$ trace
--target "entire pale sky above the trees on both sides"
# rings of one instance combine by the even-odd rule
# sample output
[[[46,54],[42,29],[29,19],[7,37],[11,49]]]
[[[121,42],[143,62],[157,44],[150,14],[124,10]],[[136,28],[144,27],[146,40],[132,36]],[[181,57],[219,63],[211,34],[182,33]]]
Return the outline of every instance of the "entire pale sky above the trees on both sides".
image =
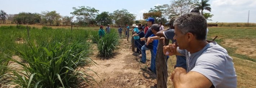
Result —
[[[2,0],[0,10],[7,14],[19,12],[37,12],[55,10],[62,16],[72,16],[72,7],[90,6],[101,12],[114,12],[127,9],[136,14],[136,20],[143,19],[142,14],[157,5],[170,4],[171,0]],[[256,23],[256,0],[210,0],[214,16],[208,22],[249,22]]]

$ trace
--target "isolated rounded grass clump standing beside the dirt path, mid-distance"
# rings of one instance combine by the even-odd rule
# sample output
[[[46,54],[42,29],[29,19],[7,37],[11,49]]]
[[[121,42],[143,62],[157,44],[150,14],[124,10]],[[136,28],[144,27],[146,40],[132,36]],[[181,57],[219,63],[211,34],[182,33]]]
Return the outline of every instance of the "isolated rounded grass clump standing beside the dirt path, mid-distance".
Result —
[[[105,58],[114,56],[114,50],[117,49],[118,43],[119,37],[117,32],[105,34],[105,36],[98,41],[98,55]]]

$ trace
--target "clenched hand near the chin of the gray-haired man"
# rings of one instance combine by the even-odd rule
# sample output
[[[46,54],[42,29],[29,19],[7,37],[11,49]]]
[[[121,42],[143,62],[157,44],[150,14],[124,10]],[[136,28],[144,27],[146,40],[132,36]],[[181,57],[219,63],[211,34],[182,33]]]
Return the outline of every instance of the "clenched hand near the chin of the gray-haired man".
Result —
[[[177,43],[169,44],[163,47],[164,55],[173,56],[177,53]]]

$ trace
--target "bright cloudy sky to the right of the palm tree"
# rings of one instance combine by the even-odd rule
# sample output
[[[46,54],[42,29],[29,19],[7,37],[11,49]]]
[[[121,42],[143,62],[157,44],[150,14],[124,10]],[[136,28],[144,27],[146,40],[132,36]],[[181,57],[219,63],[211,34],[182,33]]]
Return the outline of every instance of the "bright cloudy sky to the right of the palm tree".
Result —
[[[213,22],[247,22],[248,10],[249,22],[256,22],[256,17],[252,16],[256,14],[256,0],[213,0],[209,4],[212,8],[210,13],[214,15],[211,18]]]

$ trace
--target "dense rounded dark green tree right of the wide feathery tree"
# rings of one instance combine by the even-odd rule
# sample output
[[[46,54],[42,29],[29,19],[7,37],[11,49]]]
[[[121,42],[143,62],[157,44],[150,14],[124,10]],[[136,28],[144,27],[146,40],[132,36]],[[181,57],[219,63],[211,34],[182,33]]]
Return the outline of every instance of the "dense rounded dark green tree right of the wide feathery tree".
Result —
[[[106,25],[112,23],[109,12],[102,12],[102,13],[98,14],[95,20],[98,23],[98,25],[105,25],[106,26]]]

